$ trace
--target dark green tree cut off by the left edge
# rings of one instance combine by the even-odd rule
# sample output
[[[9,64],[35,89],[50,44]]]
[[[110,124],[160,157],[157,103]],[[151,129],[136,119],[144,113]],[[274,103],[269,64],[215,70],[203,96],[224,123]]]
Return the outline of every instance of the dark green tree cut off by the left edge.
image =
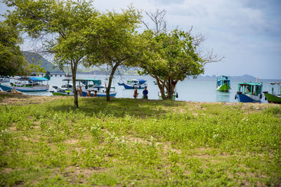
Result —
[[[22,40],[18,30],[8,25],[7,22],[0,22],[0,75],[15,76],[28,74],[29,68],[25,57],[20,51]]]

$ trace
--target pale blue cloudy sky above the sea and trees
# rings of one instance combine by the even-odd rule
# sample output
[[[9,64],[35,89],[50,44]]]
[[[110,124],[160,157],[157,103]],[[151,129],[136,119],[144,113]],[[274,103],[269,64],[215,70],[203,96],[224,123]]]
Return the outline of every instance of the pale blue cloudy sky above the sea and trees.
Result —
[[[130,4],[152,13],[165,9],[168,29],[192,27],[192,34],[204,36],[202,50],[224,57],[206,64],[204,75],[281,79],[279,0],[96,0],[93,4],[99,11],[120,11]],[[0,13],[6,9],[2,5]]]

